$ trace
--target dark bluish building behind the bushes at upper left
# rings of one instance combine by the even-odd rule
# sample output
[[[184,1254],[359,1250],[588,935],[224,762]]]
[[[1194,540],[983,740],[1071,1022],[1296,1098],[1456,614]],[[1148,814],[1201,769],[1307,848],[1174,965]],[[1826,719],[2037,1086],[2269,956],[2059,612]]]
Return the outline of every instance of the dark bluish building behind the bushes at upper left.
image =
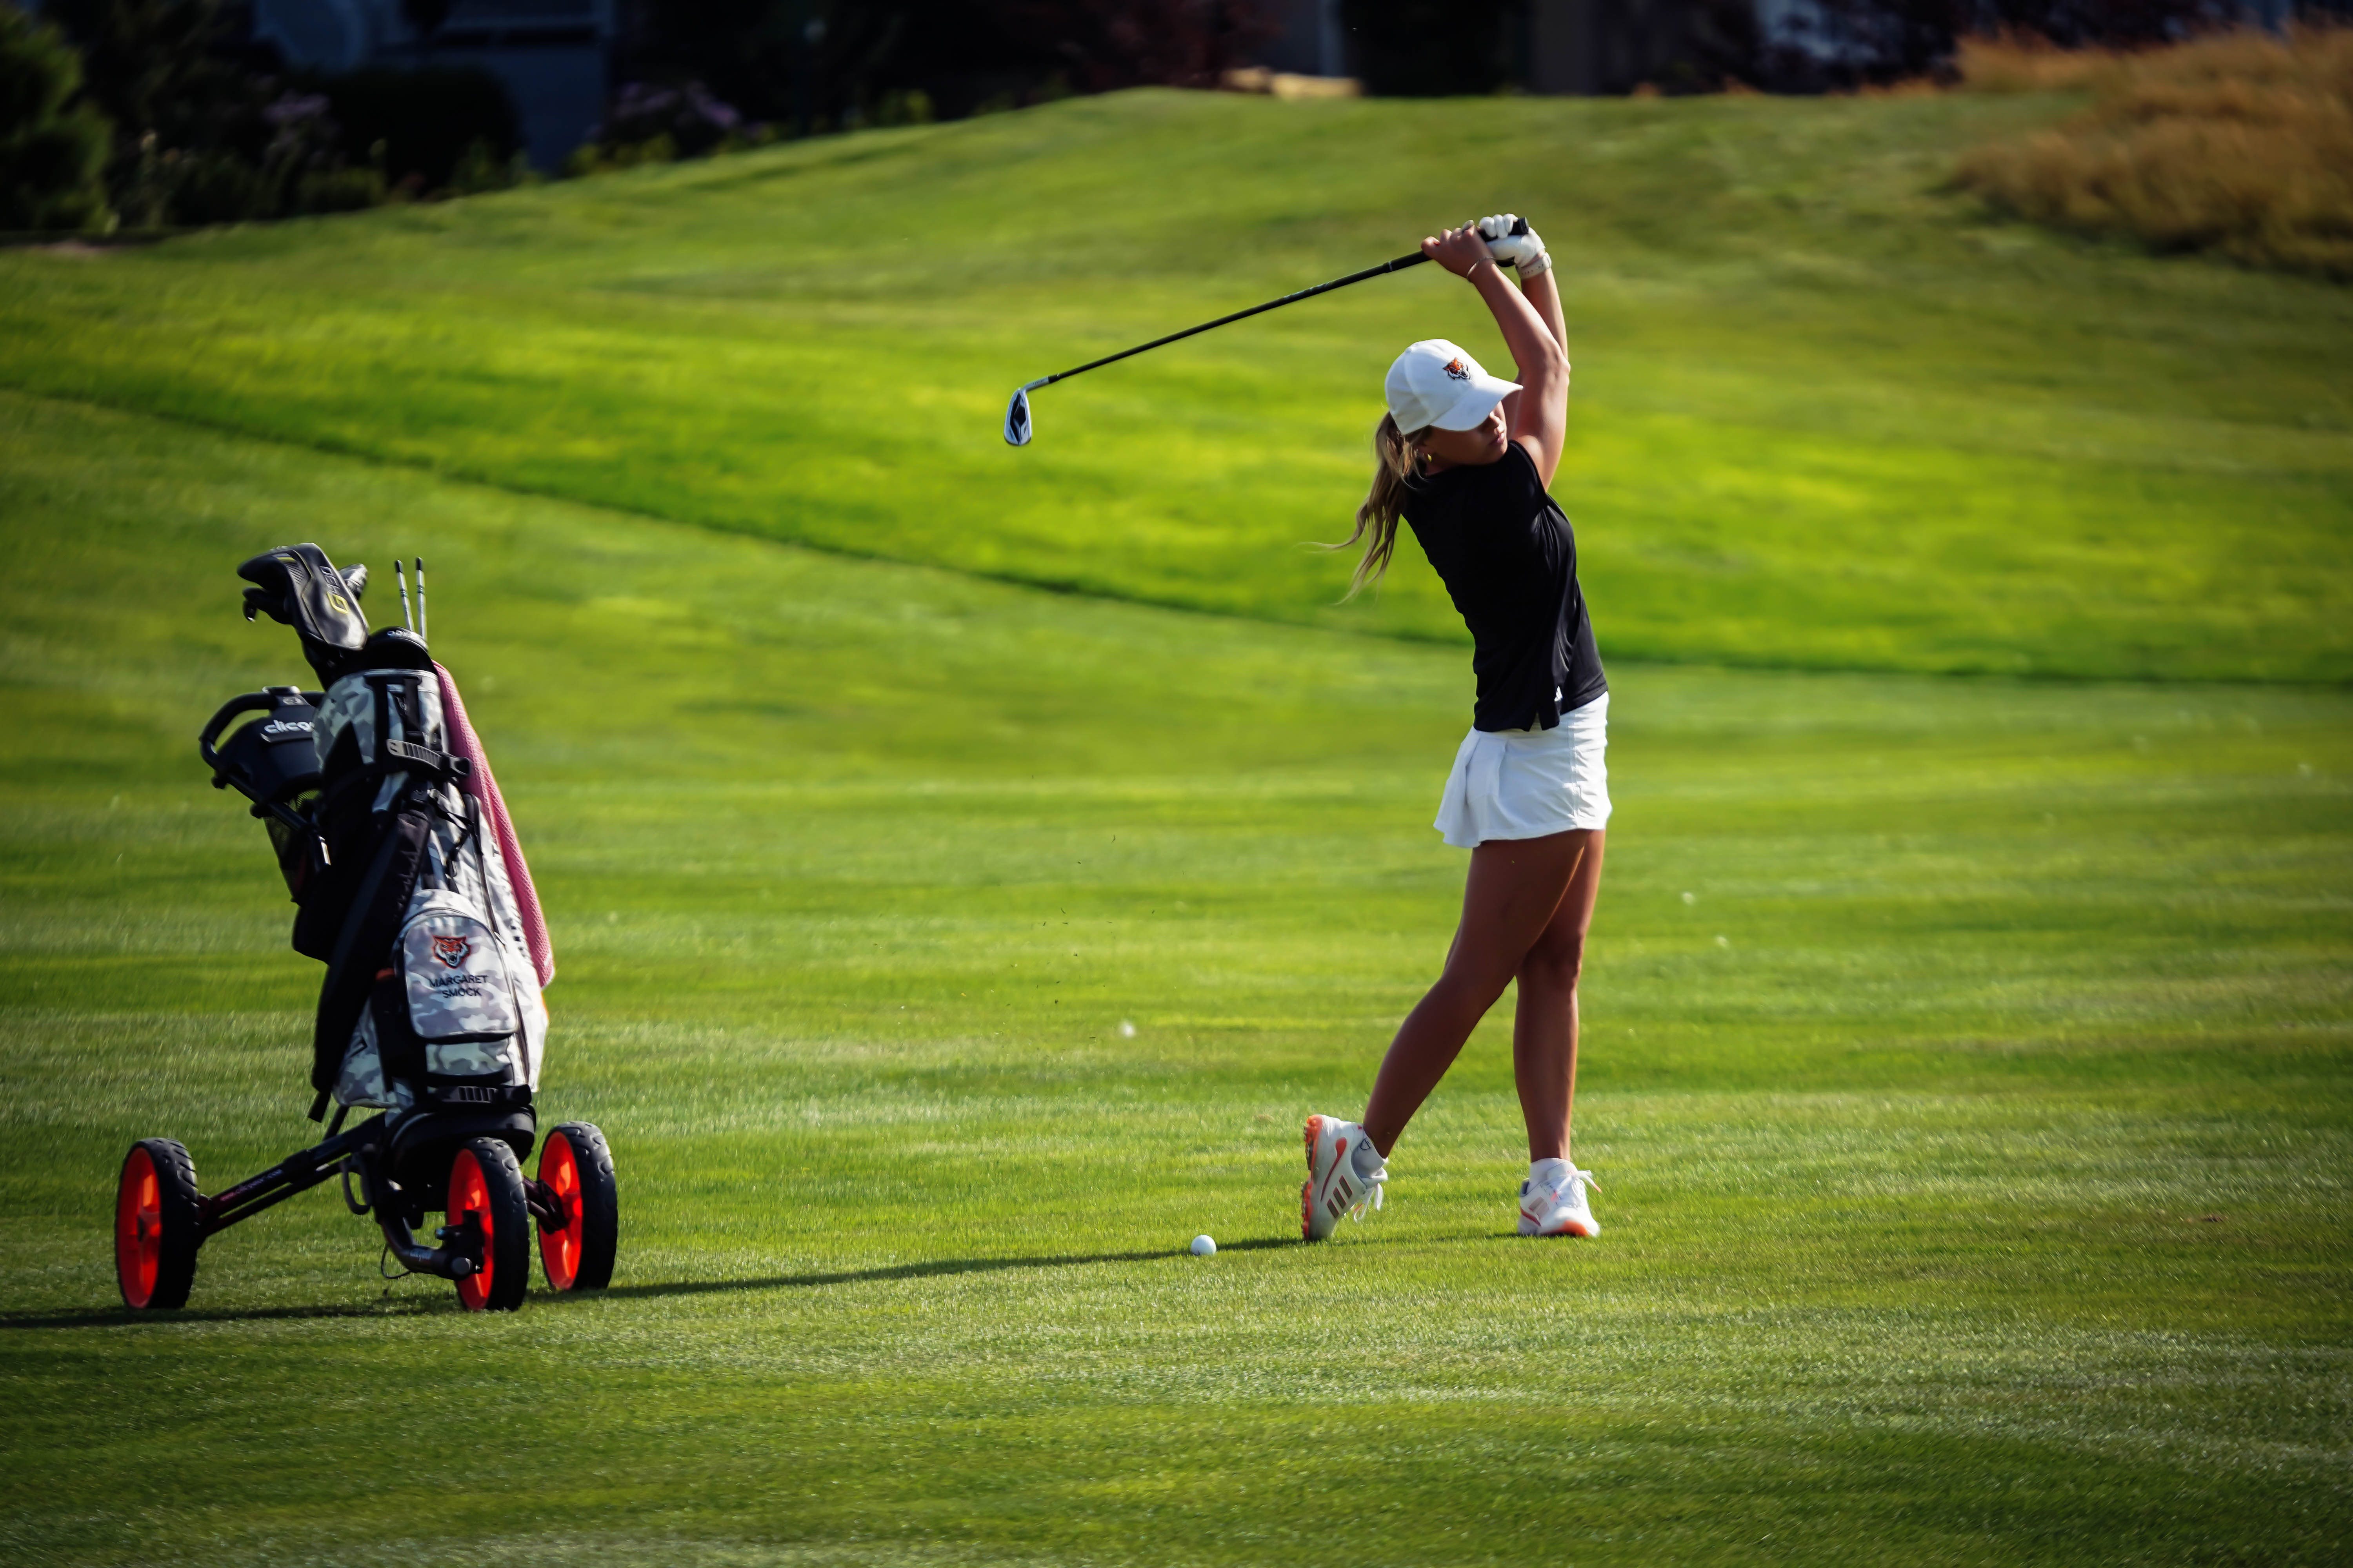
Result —
[[[487,71],[515,106],[532,165],[555,169],[605,118],[614,0],[254,0],[254,38],[329,75]]]

